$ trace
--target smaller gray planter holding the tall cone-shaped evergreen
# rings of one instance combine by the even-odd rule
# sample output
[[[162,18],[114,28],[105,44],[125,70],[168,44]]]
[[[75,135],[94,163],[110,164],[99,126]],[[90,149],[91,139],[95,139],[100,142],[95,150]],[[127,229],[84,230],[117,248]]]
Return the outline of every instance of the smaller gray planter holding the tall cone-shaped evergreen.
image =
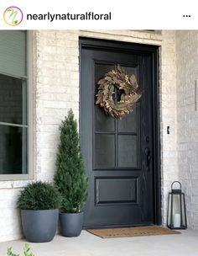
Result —
[[[83,212],[60,213],[60,229],[64,237],[78,237],[81,234]]]

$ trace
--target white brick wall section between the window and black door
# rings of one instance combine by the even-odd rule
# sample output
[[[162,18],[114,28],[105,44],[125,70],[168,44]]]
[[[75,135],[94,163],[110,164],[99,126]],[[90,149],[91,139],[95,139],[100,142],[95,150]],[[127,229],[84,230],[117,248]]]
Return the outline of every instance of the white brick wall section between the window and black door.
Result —
[[[70,108],[78,119],[78,34],[77,31],[38,31],[37,39],[36,178],[51,180],[55,173],[60,120]]]

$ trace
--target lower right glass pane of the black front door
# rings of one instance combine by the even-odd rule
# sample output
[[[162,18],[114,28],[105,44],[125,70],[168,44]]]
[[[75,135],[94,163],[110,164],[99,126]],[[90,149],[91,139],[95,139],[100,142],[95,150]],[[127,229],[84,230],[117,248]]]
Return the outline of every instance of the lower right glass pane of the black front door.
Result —
[[[118,167],[138,166],[137,136],[118,135]]]

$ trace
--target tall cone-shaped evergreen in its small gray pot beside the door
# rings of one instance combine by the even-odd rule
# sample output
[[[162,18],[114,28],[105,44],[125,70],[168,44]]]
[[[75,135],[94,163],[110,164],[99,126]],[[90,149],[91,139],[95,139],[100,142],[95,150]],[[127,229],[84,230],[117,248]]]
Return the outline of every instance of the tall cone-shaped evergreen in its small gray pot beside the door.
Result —
[[[88,181],[77,122],[71,109],[60,125],[55,184],[63,198],[60,209],[61,232],[65,237],[77,237],[83,225],[82,207],[86,202]]]

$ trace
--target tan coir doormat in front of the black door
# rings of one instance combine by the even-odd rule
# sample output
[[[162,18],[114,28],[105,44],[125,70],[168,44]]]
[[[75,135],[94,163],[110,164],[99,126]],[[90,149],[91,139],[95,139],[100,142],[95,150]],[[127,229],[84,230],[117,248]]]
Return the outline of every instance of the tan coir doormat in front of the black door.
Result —
[[[157,235],[180,234],[175,230],[165,227],[147,226],[147,227],[125,227],[125,228],[107,228],[107,229],[88,229],[88,232],[102,238],[114,237],[142,237]]]

